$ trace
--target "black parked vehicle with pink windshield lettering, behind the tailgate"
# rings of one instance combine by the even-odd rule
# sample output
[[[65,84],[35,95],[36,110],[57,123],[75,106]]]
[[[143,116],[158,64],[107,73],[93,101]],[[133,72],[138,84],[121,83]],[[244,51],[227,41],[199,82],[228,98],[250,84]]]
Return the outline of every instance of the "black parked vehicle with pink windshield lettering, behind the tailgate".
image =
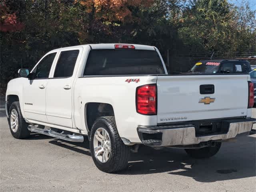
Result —
[[[250,62],[246,60],[204,60],[197,62],[190,70],[194,73],[249,73]]]

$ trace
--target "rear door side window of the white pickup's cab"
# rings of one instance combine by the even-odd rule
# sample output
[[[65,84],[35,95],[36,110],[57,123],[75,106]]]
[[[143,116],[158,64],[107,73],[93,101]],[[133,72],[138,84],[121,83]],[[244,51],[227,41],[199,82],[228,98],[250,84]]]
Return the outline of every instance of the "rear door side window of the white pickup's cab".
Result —
[[[54,78],[71,77],[79,54],[79,50],[62,51],[56,64]]]

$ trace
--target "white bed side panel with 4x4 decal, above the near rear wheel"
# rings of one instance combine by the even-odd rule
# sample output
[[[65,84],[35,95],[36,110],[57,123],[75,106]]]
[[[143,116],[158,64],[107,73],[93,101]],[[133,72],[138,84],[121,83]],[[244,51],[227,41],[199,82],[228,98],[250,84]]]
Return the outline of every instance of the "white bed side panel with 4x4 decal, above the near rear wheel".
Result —
[[[127,79],[140,79],[126,82]],[[86,131],[85,106],[88,102],[112,105],[116,126],[120,137],[131,142],[141,142],[137,127],[156,125],[156,116],[145,116],[136,112],[136,88],[144,84],[156,83],[156,76],[114,76],[78,78],[74,88],[74,121],[78,128]],[[82,104],[81,104],[82,102]]]

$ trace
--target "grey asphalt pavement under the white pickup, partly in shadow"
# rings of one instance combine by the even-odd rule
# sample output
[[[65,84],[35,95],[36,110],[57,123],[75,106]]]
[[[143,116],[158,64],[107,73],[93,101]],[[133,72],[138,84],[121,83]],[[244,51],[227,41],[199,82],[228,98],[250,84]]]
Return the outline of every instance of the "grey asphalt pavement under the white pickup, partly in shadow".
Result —
[[[205,160],[180,149],[141,147],[127,170],[106,174],[94,166],[87,140],[79,144],[40,134],[13,138],[0,103],[0,192],[88,191],[256,192],[256,135],[223,143]]]

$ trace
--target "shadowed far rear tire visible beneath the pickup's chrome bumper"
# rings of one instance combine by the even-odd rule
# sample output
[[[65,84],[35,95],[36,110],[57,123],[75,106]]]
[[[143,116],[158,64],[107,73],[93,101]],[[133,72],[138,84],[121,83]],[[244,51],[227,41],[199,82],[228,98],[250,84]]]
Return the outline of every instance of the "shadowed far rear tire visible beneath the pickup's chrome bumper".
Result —
[[[204,147],[200,149],[185,149],[192,158],[203,159],[214,156],[220,150],[221,142],[216,142],[214,147]]]

